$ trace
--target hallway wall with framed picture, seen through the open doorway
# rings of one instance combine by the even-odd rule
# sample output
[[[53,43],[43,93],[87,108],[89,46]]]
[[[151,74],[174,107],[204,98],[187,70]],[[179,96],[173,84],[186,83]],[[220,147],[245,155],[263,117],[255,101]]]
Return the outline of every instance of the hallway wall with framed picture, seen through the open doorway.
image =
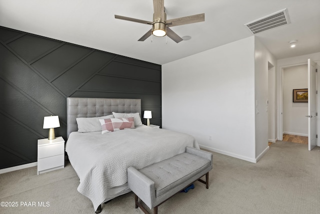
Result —
[[[283,69],[283,133],[308,136],[308,103],[293,103],[292,90],[308,88],[307,65]]]

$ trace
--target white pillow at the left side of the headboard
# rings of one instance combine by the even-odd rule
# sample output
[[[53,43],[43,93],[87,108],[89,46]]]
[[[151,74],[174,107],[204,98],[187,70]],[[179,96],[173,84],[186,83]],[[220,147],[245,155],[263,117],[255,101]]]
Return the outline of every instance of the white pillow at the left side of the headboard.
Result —
[[[101,131],[101,124],[99,119],[114,118],[112,114],[102,117],[78,117],[76,123],[78,124],[78,132],[93,132]]]

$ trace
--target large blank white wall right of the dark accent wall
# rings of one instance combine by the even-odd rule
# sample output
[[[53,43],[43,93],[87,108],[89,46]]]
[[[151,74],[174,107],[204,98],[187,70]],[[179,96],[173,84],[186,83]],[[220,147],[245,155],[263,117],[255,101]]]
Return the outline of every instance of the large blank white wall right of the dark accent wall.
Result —
[[[254,36],[162,65],[162,128],[255,162]]]

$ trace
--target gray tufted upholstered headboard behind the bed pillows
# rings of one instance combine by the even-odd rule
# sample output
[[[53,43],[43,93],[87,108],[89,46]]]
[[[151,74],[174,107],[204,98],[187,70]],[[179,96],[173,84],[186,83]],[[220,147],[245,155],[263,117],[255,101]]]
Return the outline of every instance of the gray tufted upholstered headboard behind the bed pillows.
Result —
[[[66,137],[78,130],[75,118],[101,117],[112,112],[139,112],[141,117],[141,99],[66,98]]]

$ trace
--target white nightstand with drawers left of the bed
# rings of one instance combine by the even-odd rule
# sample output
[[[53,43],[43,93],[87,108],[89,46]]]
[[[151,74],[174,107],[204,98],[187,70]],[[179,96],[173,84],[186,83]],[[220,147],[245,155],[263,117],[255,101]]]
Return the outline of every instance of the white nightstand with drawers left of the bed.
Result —
[[[64,168],[64,140],[56,137],[38,139],[38,169],[37,174]]]

